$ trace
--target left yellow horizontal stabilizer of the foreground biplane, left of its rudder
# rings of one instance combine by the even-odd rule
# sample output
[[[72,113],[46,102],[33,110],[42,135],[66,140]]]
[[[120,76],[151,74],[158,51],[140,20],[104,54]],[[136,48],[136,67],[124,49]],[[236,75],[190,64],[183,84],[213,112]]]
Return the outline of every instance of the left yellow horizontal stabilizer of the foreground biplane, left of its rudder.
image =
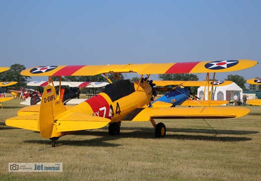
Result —
[[[38,127],[39,114],[38,115],[27,115],[17,116],[6,120],[7,126],[13,126],[16,128],[23,128],[33,131],[40,131]]]

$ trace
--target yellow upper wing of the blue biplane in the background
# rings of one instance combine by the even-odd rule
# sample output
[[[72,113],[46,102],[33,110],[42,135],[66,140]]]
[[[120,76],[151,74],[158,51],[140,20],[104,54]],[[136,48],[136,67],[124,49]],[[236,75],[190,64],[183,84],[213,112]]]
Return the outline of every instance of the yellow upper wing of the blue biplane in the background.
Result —
[[[153,83],[156,86],[166,86],[166,85],[183,85],[183,86],[205,86],[206,81],[186,81],[186,80],[153,80]],[[233,83],[232,81],[214,81],[214,86],[221,86],[221,85],[229,85]],[[212,82],[211,82],[212,85]]]

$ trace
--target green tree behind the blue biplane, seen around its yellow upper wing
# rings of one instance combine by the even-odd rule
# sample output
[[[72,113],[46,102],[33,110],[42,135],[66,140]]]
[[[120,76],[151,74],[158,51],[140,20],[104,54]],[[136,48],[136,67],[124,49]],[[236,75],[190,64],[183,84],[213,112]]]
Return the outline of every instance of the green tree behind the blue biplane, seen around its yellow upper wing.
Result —
[[[159,74],[158,78],[161,80],[192,80],[197,81],[199,80],[198,76],[192,73],[169,73],[169,74]],[[198,93],[198,86],[188,87],[190,91],[197,95]]]

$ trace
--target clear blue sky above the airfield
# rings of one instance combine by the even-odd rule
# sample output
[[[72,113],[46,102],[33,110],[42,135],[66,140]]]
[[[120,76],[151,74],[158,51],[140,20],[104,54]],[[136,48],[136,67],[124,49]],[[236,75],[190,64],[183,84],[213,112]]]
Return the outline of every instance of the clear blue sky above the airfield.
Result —
[[[222,0],[1,1],[1,66],[260,61],[260,7]],[[261,77],[260,66],[216,79]]]

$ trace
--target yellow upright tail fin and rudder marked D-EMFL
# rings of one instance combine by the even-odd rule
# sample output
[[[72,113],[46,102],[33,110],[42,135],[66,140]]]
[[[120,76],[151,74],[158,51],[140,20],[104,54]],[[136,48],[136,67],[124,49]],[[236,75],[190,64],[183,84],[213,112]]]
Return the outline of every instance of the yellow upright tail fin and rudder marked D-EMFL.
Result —
[[[52,138],[61,136],[56,132],[54,117],[65,112],[66,108],[62,101],[57,97],[55,89],[47,85],[42,95],[42,101],[39,112],[39,129],[43,138]],[[53,130],[55,126],[55,130]]]

